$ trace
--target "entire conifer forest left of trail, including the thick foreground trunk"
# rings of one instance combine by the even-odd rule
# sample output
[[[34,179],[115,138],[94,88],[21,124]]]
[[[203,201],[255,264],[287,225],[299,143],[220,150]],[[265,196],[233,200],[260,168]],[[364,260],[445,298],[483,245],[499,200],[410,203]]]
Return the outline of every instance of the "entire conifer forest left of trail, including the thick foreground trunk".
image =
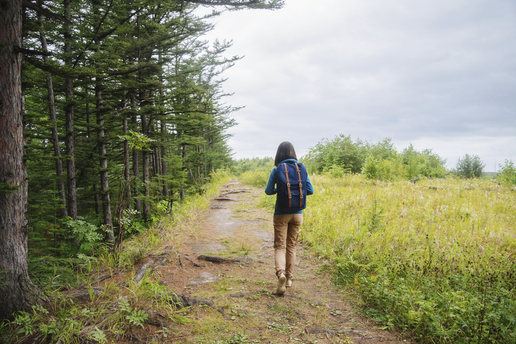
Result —
[[[231,42],[203,35],[221,11],[282,6],[2,3],[0,273],[10,295],[2,312],[36,297],[15,282],[29,280],[27,255],[70,256],[100,243],[116,251],[231,163],[225,130],[238,107],[224,103],[221,73],[239,57],[223,56]]]

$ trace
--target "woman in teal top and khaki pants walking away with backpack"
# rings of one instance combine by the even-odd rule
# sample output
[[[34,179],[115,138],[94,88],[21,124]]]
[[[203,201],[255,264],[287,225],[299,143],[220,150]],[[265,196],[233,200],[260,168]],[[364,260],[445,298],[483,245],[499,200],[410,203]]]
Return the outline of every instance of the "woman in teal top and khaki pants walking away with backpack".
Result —
[[[296,263],[296,244],[299,227],[303,223],[303,209],[307,207],[307,195],[314,194],[307,169],[297,161],[292,143],[281,142],[275,168],[269,176],[265,193],[276,194],[274,207],[274,257],[278,294],[285,293],[285,286],[292,286],[292,275]],[[274,187],[276,185],[276,187]]]

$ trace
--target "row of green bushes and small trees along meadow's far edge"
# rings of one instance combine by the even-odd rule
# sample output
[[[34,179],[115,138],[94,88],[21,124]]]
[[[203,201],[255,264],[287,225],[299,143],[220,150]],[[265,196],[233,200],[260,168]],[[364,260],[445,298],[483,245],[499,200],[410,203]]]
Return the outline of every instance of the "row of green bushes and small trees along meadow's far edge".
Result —
[[[351,136],[337,135],[334,139],[323,139],[308,154],[300,158],[310,174],[328,174],[343,177],[345,174],[361,173],[370,179],[414,179],[419,176],[443,178],[453,175],[463,178],[483,176],[485,163],[477,156],[465,154],[459,158],[453,169],[445,167],[446,159],[432,149],[417,151],[412,144],[398,152],[388,137],[369,142]],[[271,169],[272,157],[239,159],[233,172],[241,174],[259,169]],[[516,184],[516,169],[511,161],[500,165],[496,176],[499,183]],[[512,185],[511,184],[511,185]]]

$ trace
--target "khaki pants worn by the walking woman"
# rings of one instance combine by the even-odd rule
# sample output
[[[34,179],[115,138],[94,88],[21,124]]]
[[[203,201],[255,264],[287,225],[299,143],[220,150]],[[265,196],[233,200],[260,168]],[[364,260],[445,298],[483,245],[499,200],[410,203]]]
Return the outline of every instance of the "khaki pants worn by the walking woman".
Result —
[[[303,214],[274,215],[274,258],[276,259],[276,276],[285,274],[292,280],[294,263],[296,263],[296,244],[299,227],[303,223]]]

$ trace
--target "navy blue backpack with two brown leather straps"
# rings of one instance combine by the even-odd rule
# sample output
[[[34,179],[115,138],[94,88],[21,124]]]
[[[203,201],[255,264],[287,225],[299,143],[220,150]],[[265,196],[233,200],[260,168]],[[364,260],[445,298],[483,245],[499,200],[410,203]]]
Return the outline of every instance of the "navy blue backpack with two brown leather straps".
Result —
[[[307,168],[301,162],[278,165],[276,197],[281,211],[296,212],[307,207],[307,178]]]

